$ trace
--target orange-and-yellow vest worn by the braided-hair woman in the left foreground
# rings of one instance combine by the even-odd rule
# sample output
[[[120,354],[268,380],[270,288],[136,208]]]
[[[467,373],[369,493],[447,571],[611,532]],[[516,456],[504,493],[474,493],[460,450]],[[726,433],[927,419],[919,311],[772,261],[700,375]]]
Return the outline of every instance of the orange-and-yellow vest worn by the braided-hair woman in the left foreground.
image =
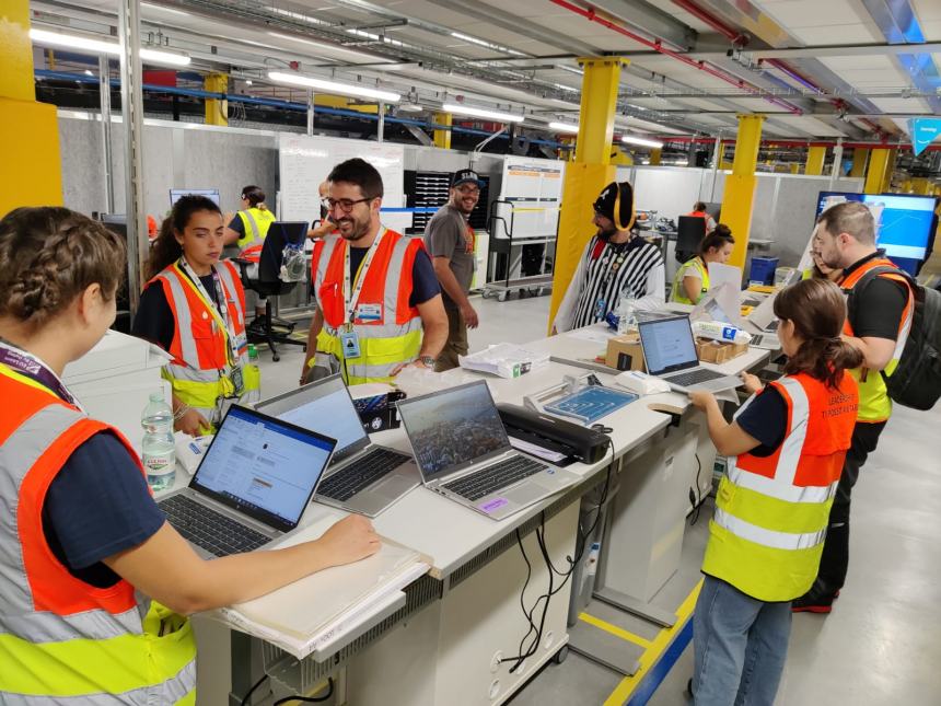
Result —
[[[0,704],[196,703],[189,621],[125,580],[72,576],[43,532],[43,502],[71,453],[109,430],[0,364]]]

